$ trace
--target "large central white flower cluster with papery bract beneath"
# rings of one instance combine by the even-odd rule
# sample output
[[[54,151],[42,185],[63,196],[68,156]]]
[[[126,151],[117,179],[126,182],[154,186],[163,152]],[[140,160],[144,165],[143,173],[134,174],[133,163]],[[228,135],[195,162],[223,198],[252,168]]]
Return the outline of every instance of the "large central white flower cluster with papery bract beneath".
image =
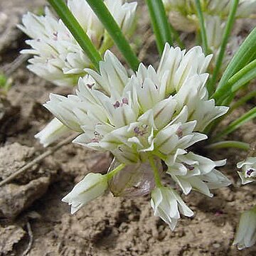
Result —
[[[73,213],[101,195],[107,182],[115,196],[151,193],[154,214],[174,229],[180,213],[193,212],[176,188],[162,183],[161,161],[167,166],[166,175],[185,194],[196,190],[213,196],[210,189],[230,184],[215,169],[225,161],[212,161],[188,149],[207,139],[203,129],[228,111],[208,100],[205,72],[211,58],[199,46],[186,52],[166,44],[157,70],[141,63],[129,76],[107,50],[100,73],[85,69],[88,75],[78,81],[76,95],[50,95],[45,107],[80,133],[73,142],[111,151],[115,158],[108,174],[98,178],[87,174],[63,198]]]

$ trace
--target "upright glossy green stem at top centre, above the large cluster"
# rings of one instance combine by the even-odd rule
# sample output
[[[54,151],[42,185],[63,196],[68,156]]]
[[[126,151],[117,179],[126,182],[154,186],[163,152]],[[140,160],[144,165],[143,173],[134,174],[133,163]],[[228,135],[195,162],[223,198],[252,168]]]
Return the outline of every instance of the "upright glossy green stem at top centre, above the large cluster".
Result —
[[[166,17],[164,4],[161,0],[146,0],[149,8],[151,24],[156,36],[156,46],[159,53],[163,53],[165,43],[172,45],[171,28]]]

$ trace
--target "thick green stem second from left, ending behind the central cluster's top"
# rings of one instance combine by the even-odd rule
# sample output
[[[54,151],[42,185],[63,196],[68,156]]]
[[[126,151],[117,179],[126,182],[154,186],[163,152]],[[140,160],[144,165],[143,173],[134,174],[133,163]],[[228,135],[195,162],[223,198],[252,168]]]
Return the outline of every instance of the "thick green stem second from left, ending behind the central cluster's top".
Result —
[[[100,19],[103,26],[105,26],[107,32],[112,37],[114,43],[117,45],[117,48],[119,48],[125,60],[127,60],[129,66],[132,68],[132,70],[136,71],[139,66],[139,60],[119,28],[117,22],[114,20],[113,16],[110,14],[110,11],[105,6],[104,2],[102,0],[86,1]]]

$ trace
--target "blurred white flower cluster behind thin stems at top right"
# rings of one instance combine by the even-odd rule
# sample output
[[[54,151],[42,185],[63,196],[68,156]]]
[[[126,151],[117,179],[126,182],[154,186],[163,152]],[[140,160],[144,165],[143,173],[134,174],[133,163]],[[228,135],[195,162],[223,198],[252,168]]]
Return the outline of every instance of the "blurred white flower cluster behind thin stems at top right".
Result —
[[[230,0],[201,0],[201,7],[205,19],[208,47],[214,55],[218,54],[222,41],[225,24],[230,12],[232,2]],[[196,3],[193,0],[164,0],[166,11],[169,12],[171,24],[178,31],[191,33],[199,29],[196,12]],[[256,0],[239,1],[236,18],[250,18],[255,14]],[[241,43],[241,38],[232,36],[228,43],[223,68],[228,64]]]

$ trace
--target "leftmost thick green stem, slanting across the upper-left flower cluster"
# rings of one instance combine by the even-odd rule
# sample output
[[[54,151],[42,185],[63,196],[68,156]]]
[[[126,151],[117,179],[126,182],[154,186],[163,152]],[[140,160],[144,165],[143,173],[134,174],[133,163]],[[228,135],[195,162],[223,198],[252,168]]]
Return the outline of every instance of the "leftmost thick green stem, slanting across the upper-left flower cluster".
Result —
[[[75,40],[78,41],[82,50],[84,50],[85,54],[90,58],[95,69],[99,70],[99,62],[102,60],[100,53],[98,53],[90,38],[82,29],[75,16],[73,16],[71,11],[68,9],[68,6],[66,6],[63,0],[48,0],[48,2],[53,6],[53,9],[56,11],[58,16],[60,16],[65,26],[74,36]]]

